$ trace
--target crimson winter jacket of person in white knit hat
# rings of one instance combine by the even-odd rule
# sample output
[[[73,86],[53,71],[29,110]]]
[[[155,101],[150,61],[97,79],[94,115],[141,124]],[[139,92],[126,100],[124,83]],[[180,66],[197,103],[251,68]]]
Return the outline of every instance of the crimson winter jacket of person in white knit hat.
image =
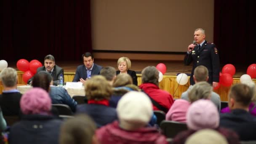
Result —
[[[168,144],[165,136],[155,128],[139,128],[126,131],[119,128],[117,121],[99,128],[96,136],[101,144]]]

